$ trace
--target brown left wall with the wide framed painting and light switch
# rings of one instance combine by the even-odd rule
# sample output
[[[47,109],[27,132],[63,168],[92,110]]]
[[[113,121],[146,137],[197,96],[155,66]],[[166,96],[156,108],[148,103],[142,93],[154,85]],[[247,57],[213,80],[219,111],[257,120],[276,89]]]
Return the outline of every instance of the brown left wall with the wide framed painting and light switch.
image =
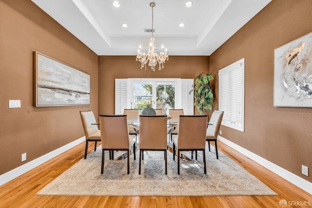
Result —
[[[91,104],[34,107],[33,51],[89,73]],[[84,136],[79,111],[98,113],[98,56],[31,0],[1,0],[0,57],[1,175]]]

